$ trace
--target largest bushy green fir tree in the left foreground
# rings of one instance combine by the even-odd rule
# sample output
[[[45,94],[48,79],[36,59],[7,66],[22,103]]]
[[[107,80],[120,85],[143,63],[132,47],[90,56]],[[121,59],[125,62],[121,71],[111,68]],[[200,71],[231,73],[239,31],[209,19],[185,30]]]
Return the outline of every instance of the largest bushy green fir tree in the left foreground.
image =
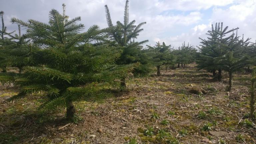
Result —
[[[115,85],[115,81],[133,70],[134,65],[114,64],[120,56],[117,48],[95,43],[105,38],[109,29],[100,30],[94,25],[80,33],[84,29],[83,24],[77,24],[80,20],[80,17],[68,19],[64,4],[63,14],[55,9],[50,11],[48,23],[11,19],[27,28],[24,36],[41,50],[38,51],[37,66],[27,66],[20,76],[15,77],[20,92],[9,101],[41,92],[46,99],[41,109],[66,108],[66,116],[72,120],[73,102],[105,95],[103,86]]]

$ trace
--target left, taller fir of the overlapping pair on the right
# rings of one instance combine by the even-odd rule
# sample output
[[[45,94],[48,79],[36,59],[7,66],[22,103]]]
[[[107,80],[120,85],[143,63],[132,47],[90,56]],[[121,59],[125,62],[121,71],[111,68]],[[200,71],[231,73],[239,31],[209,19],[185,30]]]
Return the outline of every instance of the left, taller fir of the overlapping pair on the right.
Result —
[[[222,80],[222,67],[219,63],[215,62],[217,57],[221,57],[225,54],[222,45],[228,44],[233,37],[233,34],[226,36],[227,34],[233,32],[232,29],[227,31],[228,27],[223,27],[223,23],[216,23],[215,27],[212,25],[212,30],[208,31],[207,35],[209,37],[206,39],[201,39],[201,48],[199,48],[199,56],[197,57],[197,64],[199,69],[206,69],[212,71],[215,75],[215,71],[218,70],[217,79]]]

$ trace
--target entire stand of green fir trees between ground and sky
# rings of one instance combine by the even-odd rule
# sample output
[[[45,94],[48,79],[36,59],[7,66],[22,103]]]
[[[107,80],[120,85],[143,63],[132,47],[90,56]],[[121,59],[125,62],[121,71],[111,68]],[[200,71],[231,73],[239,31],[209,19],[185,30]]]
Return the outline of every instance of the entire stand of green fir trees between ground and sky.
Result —
[[[18,25],[17,34],[4,26],[1,11],[0,82],[19,88],[19,93],[8,101],[43,93],[45,102],[40,109],[66,108],[67,119],[74,120],[74,102],[108,95],[110,90],[125,90],[126,78],[131,73],[142,77],[157,70],[160,76],[161,68],[174,70],[196,62],[198,70],[212,72],[218,81],[222,81],[222,71],[228,72],[228,91],[232,91],[234,72],[251,71],[250,117],[255,117],[256,75],[252,69],[256,65],[256,43],[238,36],[239,28],[228,29],[223,23],[216,23],[197,48],[185,42],[178,49],[164,42],[143,48],[148,40],[136,39],[146,22],[135,25],[135,20],[129,20],[128,2],[123,22],[113,24],[111,10],[105,5],[108,27],[100,29],[93,25],[86,32],[79,23],[81,17],[69,18],[64,4],[62,12],[55,9],[49,12],[48,23],[11,18]],[[21,28],[26,33],[22,34]],[[19,73],[8,71],[9,67],[18,68]]]

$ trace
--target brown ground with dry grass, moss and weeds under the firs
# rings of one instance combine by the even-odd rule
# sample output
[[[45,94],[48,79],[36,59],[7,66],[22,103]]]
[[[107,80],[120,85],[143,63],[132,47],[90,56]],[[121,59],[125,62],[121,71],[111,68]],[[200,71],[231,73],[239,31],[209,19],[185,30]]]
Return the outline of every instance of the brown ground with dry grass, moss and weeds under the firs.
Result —
[[[130,77],[125,92],[76,103],[77,123],[64,120],[65,110],[38,111],[41,94],[6,102],[17,88],[2,85],[0,143],[256,143],[255,121],[247,119],[250,82],[244,78],[249,73],[234,75],[231,92],[226,90],[227,73],[218,82],[211,73],[198,71],[195,64],[161,73],[159,77]],[[191,94],[193,87],[207,94]],[[227,135],[216,137],[209,131]]]

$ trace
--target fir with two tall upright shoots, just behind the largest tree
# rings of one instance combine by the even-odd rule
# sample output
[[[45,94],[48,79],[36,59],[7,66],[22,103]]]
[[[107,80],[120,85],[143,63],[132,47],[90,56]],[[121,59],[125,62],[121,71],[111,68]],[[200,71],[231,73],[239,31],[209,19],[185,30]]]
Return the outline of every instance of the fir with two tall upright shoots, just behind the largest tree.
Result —
[[[142,54],[142,44],[148,42],[148,40],[144,40],[141,42],[135,42],[139,36],[139,33],[143,31],[141,28],[142,25],[146,24],[146,22],[139,23],[137,26],[135,25],[135,20],[129,22],[129,1],[126,0],[125,10],[124,10],[124,22],[120,21],[116,22],[114,26],[110,17],[110,12],[108,6],[105,5],[106,10],[106,19],[109,27],[113,29],[108,33],[111,38],[111,43],[114,46],[119,46],[122,50],[122,54],[120,58],[116,61],[118,65],[132,64],[140,62],[142,65],[137,67],[133,72],[138,74],[138,72],[148,72],[150,70],[150,62],[146,62],[141,59],[141,55],[146,56],[145,53]],[[146,64],[146,65],[143,65]],[[126,76],[121,79],[121,87],[126,88],[125,82]]]

